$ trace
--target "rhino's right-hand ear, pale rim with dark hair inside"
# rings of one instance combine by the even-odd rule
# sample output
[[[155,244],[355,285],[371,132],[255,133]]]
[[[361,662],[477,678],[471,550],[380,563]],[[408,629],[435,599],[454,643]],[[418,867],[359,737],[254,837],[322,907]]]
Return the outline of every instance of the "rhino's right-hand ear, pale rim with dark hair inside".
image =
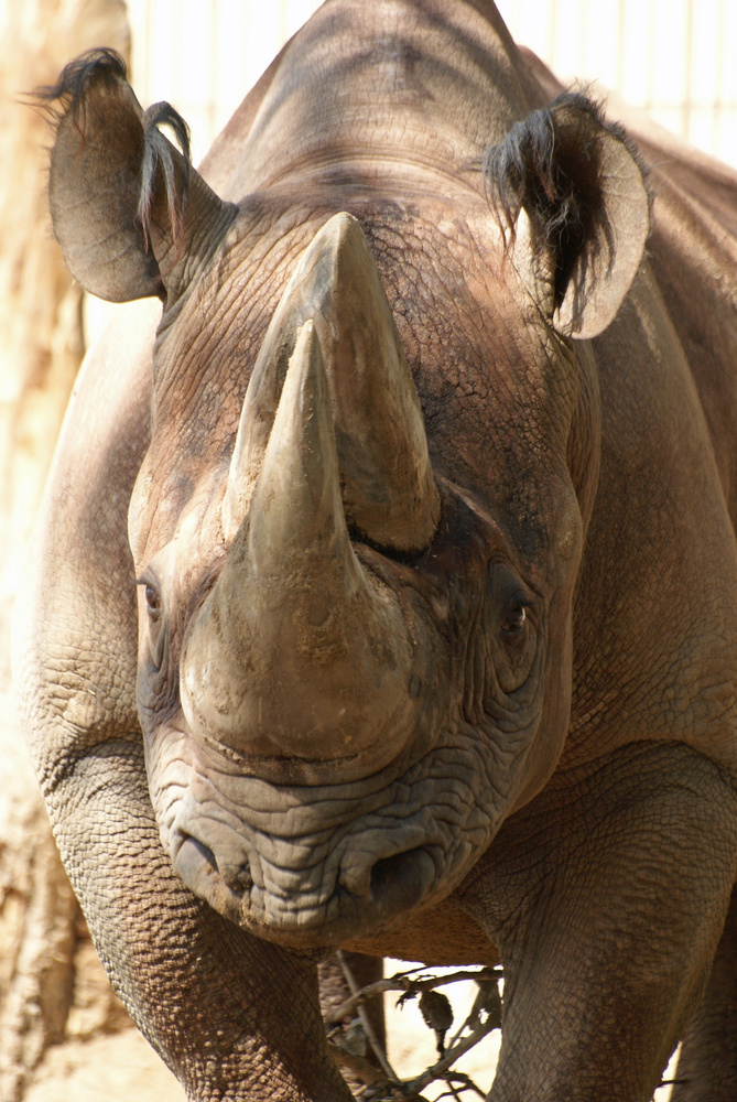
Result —
[[[637,154],[600,108],[564,95],[487,152],[485,177],[516,269],[553,327],[595,337],[644,253],[650,196]]]

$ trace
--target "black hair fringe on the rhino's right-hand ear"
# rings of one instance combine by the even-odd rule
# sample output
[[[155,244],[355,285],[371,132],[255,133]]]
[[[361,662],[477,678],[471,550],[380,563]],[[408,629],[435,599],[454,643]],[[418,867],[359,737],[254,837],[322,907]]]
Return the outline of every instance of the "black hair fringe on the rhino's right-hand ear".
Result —
[[[563,112],[562,108],[568,110]],[[571,119],[575,112],[594,125],[561,123],[561,118]],[[505,239],[509,234],[513,241],[517,218],[524,208],[535,251],[550,251],[555,258],[556,306],[572,278],[583,283],[587,261],[595,259],[605,241],[609,269],[615,259],[614,234],[603,199],[598,143],[592,140],[600,129],[622,141],[640,163],[622,129],[606,122],[601,106],[581,93],[564,93],[549,108],[532,111],[484,158],[489,204]]]

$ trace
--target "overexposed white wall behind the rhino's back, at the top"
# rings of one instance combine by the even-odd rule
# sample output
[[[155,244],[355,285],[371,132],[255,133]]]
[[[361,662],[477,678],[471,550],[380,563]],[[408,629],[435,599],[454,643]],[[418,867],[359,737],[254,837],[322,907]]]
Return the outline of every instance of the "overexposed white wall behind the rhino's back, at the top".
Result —
[[[204,154],[246,89],[318,6],[129,0],[139,98],[171,99]],[[562,79],[600,82],[737,165],[735,0],[497,0],[497,7],[512,37]]]

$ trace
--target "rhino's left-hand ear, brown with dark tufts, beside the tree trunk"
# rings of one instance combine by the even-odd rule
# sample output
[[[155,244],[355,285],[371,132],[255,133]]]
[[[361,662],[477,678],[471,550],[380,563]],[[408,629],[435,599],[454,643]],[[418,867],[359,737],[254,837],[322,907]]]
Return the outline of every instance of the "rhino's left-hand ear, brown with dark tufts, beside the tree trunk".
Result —
[[[180,293],[192,251],[212,247],[202,227],[217,234],[235,210],[191,168],[184,120],[169,104],[144,112],[111,50],[71,62],[37,98],[58,104],[50,204],[72,274],[112,302]]]

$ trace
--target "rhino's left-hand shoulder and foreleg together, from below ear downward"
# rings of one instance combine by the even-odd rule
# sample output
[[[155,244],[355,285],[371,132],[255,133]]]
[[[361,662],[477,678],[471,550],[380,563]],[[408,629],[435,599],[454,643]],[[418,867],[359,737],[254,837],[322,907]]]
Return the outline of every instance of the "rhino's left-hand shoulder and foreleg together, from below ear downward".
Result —
[[[136,711],[127,540],[160,307],[121,311],[109,348],[127,348],[131,365],[110,369],[102,345],[83,368],[17,625],[17,678],[54,834],[113,985],[189,1102],[346,1102],[315,964],[221,918],[161,845]]]

